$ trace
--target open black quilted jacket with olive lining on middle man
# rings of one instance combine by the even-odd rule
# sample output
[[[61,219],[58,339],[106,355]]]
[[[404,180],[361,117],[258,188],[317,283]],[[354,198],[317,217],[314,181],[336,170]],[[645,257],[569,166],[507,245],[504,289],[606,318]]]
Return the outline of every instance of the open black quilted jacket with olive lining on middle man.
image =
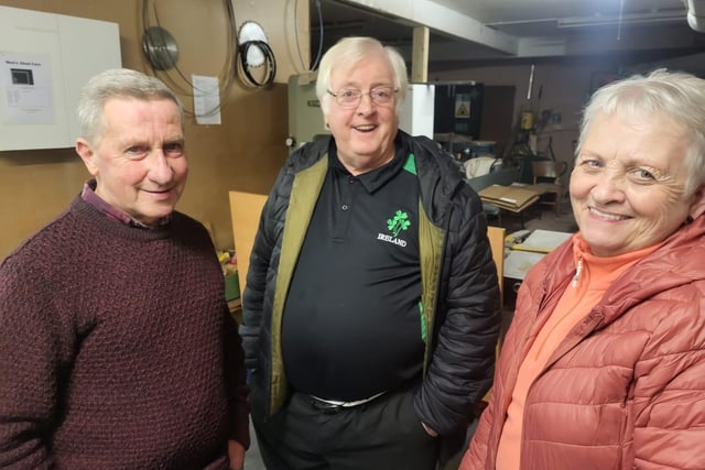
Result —
[[[477,194],[453,157],[427,138],[399,131],[420,187],[420,260],[426,331],[424,380],[414,405],[440,434],[465,426],[492,382],[499,284]],[[290,155],[262,209],[243,293],[246,362],[267,391],[253,407],[273,415],[289,394],[281,350],[284,302],[328,170],[329,139]],[[302,338],[302,340],[305,340]]]

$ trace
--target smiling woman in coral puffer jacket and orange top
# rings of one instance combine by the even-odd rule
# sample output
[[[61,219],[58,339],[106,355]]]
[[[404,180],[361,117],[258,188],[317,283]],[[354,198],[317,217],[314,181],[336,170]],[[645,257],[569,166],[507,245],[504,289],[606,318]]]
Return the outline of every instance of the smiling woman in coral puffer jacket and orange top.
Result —
[[[705,469],[705,80],[585,109],[579,231],[528,274],[462,470]]]

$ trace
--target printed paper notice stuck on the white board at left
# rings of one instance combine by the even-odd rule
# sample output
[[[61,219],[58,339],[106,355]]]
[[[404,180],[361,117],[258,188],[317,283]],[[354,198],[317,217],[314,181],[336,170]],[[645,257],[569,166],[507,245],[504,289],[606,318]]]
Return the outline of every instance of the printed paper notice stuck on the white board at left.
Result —
[[[4,114],[12,124],[53,124],[52,70],[48,56],[0,52]],[[1,101],[0,101],[1,102]]]

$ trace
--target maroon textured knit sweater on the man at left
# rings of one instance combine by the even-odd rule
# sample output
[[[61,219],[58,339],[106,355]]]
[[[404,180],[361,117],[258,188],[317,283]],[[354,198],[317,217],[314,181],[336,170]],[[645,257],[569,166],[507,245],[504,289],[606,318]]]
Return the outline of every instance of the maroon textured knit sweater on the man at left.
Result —
[[[0,468],[227,469],[240,339],[204,227],[77,197],[0,265]]]

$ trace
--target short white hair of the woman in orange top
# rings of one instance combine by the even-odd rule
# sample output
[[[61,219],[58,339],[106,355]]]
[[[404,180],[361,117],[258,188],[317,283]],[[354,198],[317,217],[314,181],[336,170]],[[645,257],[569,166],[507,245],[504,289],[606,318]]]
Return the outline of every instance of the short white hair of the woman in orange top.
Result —
[[[583,111],[579,154],[593,119],[600,113],[649,117],[660,113],[684,128],[688,142],[684,164],[685,194],[692,195],[705,182],[705,80],[683,72],[659,68],[648,75],[632,75],[598,89]]]

